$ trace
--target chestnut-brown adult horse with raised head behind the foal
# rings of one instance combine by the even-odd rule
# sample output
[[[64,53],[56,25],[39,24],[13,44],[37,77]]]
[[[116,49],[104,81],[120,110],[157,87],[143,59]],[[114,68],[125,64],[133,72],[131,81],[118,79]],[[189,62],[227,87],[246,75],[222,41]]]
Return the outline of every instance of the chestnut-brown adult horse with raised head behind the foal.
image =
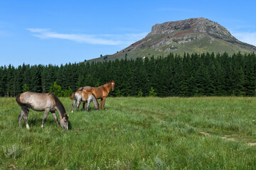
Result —
[[[100,98],[100,109],[104,110],[105,100],[110,93],[110,90],[114,91],[114,81],[107,82],[106,84],[99,87],[84,86],[80,87],[78,91],[91,92],[95,98]]]

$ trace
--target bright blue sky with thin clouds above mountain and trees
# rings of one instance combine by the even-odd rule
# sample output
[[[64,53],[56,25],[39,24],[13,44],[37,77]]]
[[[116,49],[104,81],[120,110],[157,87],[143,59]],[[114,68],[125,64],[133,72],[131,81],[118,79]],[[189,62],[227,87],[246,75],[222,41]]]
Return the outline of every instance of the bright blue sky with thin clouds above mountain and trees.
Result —
[[[0,66],[111,55],[156,23],[204,17],[256,45],[256,1],[0,1]]]

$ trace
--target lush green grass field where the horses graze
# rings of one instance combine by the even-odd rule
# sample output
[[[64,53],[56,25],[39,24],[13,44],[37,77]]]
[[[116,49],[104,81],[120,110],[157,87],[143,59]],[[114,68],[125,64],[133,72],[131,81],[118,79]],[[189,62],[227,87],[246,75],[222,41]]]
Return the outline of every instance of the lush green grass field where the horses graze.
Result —
[[[74,113],[60,101],[68,131],[36,111],[18,128],[21,108],[0,98],[0,169],[256,169],[256,98],[107,98]]]

